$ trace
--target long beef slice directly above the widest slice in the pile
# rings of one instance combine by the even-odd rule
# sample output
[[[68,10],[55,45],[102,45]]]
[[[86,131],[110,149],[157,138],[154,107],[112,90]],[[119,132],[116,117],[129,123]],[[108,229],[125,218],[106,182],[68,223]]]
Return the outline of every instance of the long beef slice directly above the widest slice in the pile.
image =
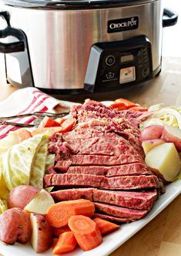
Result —
[[[57,166],[55,170],[58,173],[82,173],[82,174],[92,174],[100,175],[106,177],[116,177],[116,176],[126,176],[126,175],[152,175],[152,168],[149,168],[144,163],[129,163],[116,165],[112,167],[104,166],[78,166],[78,167],[69,167],[65,171],[65,167]]]

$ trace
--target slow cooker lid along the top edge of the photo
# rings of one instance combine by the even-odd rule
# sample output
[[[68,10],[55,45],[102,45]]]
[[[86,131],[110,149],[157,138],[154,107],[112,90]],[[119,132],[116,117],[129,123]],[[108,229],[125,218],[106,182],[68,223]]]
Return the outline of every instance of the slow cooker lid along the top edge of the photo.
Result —
[[[23,8],[111,8],[116,6],[141,5],[158,0],[0,0],[5,5]]]

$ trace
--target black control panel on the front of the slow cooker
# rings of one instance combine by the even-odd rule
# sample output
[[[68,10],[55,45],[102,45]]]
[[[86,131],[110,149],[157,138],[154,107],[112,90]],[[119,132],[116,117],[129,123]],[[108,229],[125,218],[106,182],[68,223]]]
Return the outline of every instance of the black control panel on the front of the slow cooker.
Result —
[[[152,49],[149,39],[139,35],[119,42],[92,45],[84,89],[109,91],[153,78]]]

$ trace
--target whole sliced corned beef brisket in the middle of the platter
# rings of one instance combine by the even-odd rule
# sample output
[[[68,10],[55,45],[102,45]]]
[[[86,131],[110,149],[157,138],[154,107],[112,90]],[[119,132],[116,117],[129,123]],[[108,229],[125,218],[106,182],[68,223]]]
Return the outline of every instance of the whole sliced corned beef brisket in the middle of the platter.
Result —
[[[90,99],[72,106],[76,126],[68,133],[55,133],[49,143],[55,166],[44,184],[60,189],[51,193],[55,201],[92,200],[95,217],[108,221],[136,221],[148,213],[162,183],[143,160],[141,114]]]

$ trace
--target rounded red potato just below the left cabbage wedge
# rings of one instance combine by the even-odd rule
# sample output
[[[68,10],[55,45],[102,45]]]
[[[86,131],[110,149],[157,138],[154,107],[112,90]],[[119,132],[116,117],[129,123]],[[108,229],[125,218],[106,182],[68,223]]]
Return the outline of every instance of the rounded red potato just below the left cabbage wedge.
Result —
[[[12,189],[8,195],[8,208],[24,209],[27,204],[39,193],[38,187],[21,185]]]

